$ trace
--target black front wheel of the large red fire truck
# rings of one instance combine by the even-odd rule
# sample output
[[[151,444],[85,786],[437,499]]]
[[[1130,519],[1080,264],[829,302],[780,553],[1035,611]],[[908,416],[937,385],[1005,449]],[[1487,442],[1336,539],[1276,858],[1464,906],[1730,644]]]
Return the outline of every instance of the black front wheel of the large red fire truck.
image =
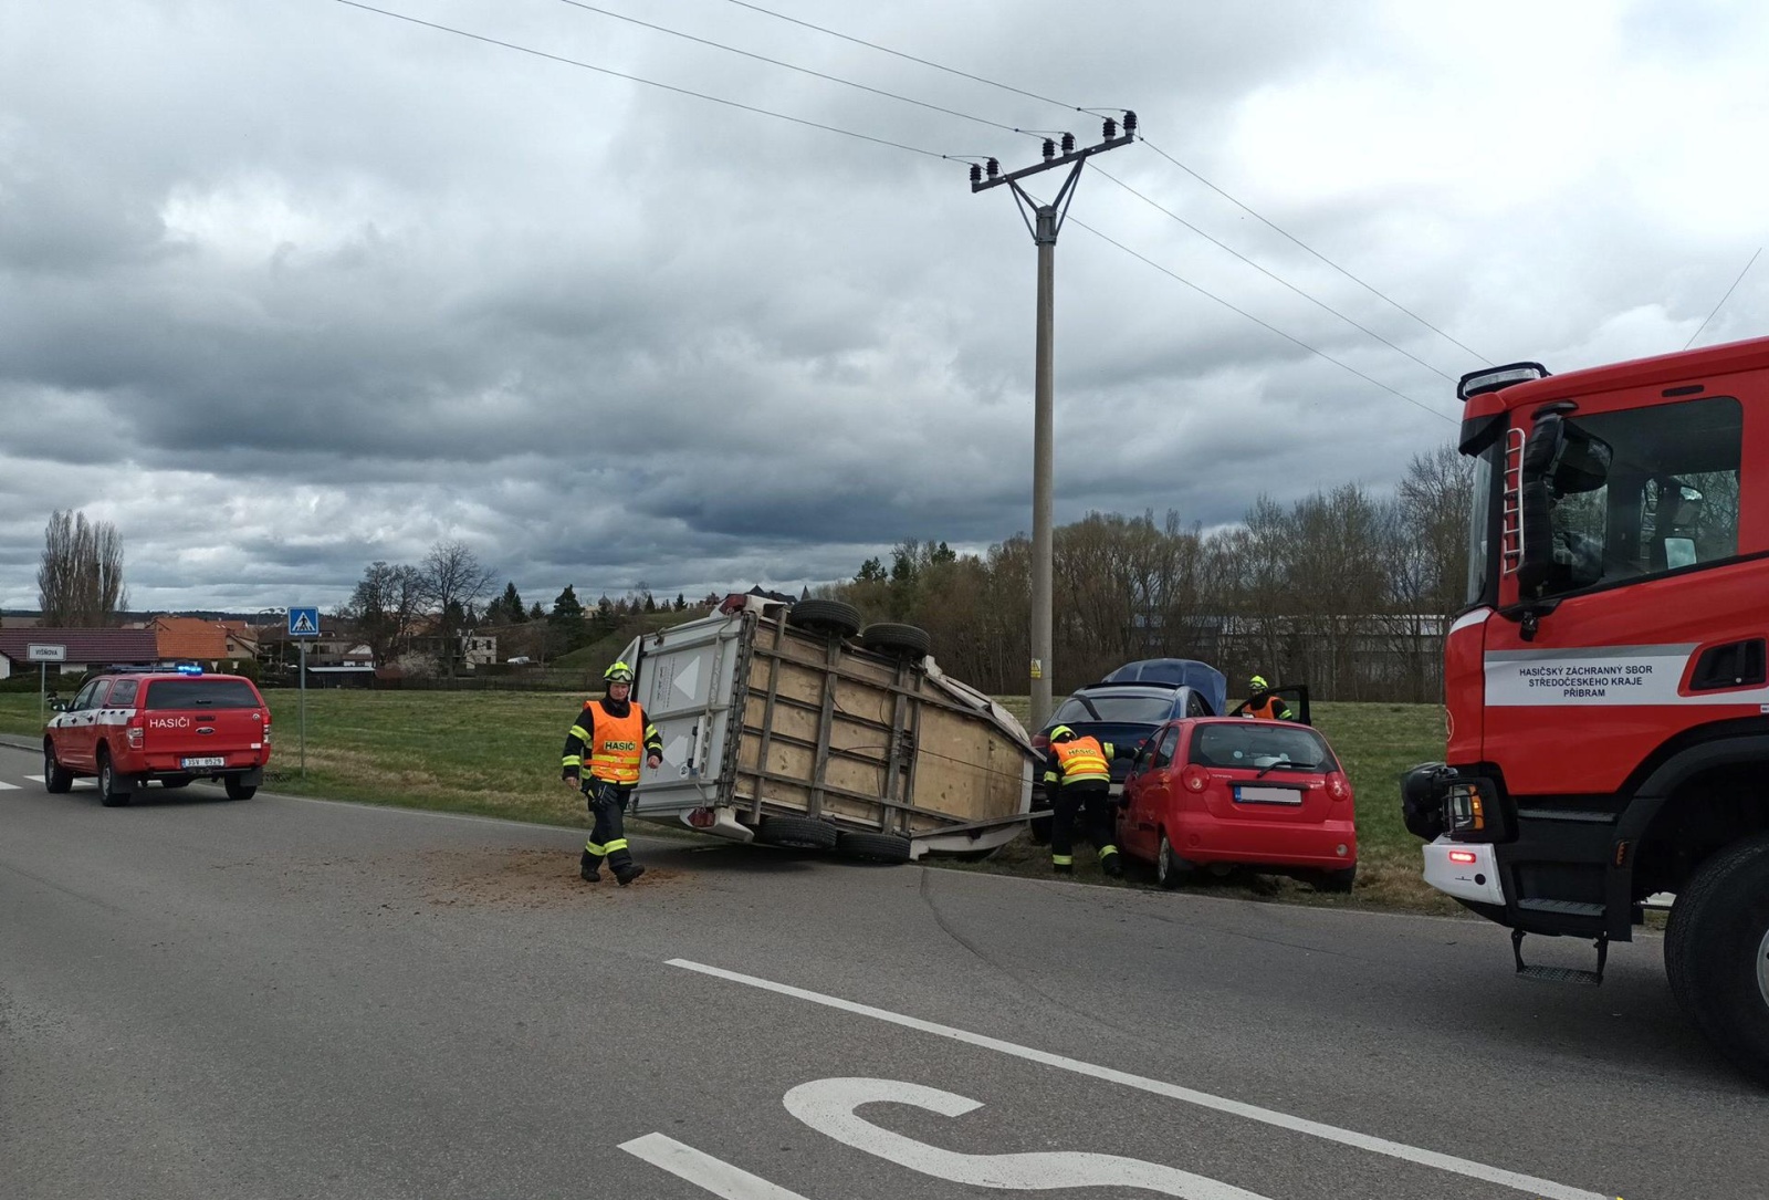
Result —
[[[1769,1083],[1769,835],[1719,851],[1679,892],[1665,972],[1719,1053]]]

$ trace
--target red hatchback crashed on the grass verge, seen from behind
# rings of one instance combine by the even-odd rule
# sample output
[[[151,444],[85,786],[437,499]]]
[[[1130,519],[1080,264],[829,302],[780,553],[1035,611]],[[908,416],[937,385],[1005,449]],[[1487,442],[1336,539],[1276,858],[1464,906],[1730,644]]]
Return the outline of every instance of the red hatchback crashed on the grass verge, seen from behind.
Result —
[[[1118,850],[1162,887],[1249,865],[1350,892],[1352,781],[1314,729],[1290,720],[1189,717],[1143,743],[1123,786]]]

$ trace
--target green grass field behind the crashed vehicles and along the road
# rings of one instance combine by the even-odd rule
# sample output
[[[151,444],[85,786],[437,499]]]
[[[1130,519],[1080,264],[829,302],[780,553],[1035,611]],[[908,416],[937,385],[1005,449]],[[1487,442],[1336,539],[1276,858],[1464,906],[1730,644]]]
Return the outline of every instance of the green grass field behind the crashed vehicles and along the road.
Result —
[[[301,768],[299,692],[265,694],[276,722],[267,789],[412,809],[476,812],[517,821],[587,827],[559,782],[559,747],[582,697],[538,692],[356,692],[306,696],[306,770]],[[998,697],[1021,720],[1028,701]],[[1272,876],[1231,876],[1196,890],[1311,904],[1461,912],[1419,878],[1419,842],[1401,827],[1396,781],[1444,756],[1435,704],[1313,704],[1316,727],[1344,761],[1357,793],[1359,878],[1352,896],[1327,896]],[[0,733],[35,738],[35,694],[0,694]],[[962,869],[1044,874],[1049,851],[1021,837],[994,858]],[[1079,880],[1107,881],[1091,853],[1076,855]],[[1145,885],[1132,871],[1130,887]]]

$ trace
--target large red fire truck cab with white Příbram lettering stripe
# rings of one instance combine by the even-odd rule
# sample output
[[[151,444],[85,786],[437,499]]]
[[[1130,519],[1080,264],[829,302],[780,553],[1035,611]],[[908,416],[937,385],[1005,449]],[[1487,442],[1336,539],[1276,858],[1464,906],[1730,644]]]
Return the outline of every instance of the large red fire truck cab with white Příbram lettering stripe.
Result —
[[[1426,880],[1569,982],[1673,894],[1672,993],[1769,1083],[1769,338],[1458,396],[1449,761],[1401,781]],[[1530,933],[1589,938],[1596,970],[1527,965]]]

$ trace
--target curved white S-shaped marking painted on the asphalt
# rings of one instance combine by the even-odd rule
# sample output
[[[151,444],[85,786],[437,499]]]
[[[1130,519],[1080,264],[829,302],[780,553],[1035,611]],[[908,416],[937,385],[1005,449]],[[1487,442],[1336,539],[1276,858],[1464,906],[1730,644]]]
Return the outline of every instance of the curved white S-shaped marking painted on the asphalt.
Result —
[[[817,1133],[913,1172],[973,1188],[1049,1191],[1053,1188],[1139,1188],[1182,1200],[1268,1200],[1205,1175],[1118,1154],[959,1154],[881,1129],[854,1110],[860,1104],[913,1104],[941,1117],[962,1117],[978,1101],[938,1087],[899,1080],[816,1080],[785,1094],[785,1110]]]

